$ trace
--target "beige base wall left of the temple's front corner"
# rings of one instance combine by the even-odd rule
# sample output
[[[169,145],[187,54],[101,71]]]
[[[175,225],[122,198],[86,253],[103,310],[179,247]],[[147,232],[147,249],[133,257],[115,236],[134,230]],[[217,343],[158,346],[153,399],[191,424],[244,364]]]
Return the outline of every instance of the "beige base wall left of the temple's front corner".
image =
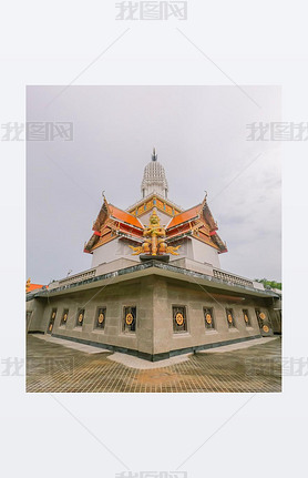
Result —
[[[52,335],[71,338],[76,342],[113,345],[119,348],[140,350],[152,354],[152,287],[145,277],[124,284],[93,288],[80,293],[63,294],[49,299],[41,316],[40,329],[47,333],[52,309],[57,308]],[[124,307],[135,306],[137,309],[137,334],[123,332]],[[99,307],[106,308],[104,329],[95,328]],[[78,326],[79,309],[84,308],[83,325]],[[65,325],[61,325],[63,311],[69,309]],[[31,332],[31,330],[29,330]]]

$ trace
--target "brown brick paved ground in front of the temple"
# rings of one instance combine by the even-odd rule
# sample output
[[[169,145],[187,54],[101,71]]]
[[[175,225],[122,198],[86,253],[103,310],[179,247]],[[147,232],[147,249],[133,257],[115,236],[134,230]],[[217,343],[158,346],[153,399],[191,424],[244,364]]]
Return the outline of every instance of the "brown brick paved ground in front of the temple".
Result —
[[[142,370],[31,335],[27,345],[27,391],[281,391],[280,338]]]

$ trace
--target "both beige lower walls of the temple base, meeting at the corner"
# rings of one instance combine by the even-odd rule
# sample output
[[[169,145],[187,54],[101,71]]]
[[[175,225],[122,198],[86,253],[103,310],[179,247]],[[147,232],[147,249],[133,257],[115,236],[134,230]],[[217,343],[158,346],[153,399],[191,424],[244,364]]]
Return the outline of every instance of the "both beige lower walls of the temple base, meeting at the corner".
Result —
[[[216,292],[217,294],[217,292]],[[49,298],[29,301],[32,312],[29,332],[47,333],[52,309],[57,309],[52,335],[88,344],[101,344],[111,349],[135,353],[145,358],[166,358],[170,354],[193,352],[195,347],[225,345],[260,336],[255,308],[273,316],[265,298],[229,296],[213,289],[153,274],[101,288],[65,292]],[[225,295],[224,295],[225,294]],[[96,327],[97,309],[105,307],[105,327]],[[125,307],[136,307],[136,330],[124,332]],[[174,332],[174,309],[184,307],[187,329]],[[213,308],[215,327],[206,328],[204,307]],[[69,309],[65,325],[61,325],[64,308]],[[84,308],[82,326],[78,326],[79,309]],[[235,327],[229,328],[226,308],[234,313]],[[250,325],[246,326],[243,308],[248,309]],[[269,335],[273,332],[270,330]],[[263,334],[264,335],[264,334]]]

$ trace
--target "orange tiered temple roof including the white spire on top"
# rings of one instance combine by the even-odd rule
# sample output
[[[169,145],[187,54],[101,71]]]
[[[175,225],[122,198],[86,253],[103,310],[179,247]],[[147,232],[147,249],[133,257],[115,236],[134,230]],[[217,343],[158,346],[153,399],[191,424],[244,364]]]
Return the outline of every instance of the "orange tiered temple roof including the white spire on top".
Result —
[[[132,242],[142,242],[143,231],[148,213],[155,209],[166,221],[166,242],[179,241],[187,236],[211,245],[219,254],[227,251],[226,244],[217,234],[214,220],[206,197],[199,204],[183,211],[182,207],[167,199],[167,181],[164,167],[157,162],[155,149],[152,161],[145,166],[142,181],[143,199],[122,211],[110,204],[104,197],[101,211],[93,224],[93,234],[84,246],[84,252],[92,253],[95,248],[115,240],[126,237]]]

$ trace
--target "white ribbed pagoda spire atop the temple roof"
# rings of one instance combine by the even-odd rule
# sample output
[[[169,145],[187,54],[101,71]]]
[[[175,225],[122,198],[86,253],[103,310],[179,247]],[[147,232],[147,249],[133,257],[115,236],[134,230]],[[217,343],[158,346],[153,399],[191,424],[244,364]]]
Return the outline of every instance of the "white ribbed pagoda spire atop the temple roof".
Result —
[[[166,180],[165,170],[157,161],[157,153],[153,148],[152,161],[146,164],[141,183],[142,196],[156,193],[160,196],[167,199],[168,183]]]

